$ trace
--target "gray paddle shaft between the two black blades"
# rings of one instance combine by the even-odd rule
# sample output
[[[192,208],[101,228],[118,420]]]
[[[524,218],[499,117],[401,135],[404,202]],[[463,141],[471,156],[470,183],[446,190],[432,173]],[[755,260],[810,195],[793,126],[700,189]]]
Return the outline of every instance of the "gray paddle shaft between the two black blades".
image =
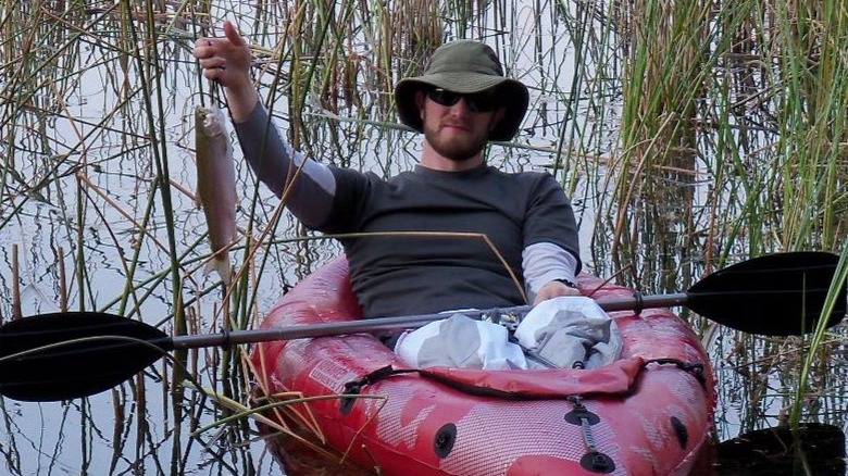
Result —
[[[604,311],[613,312],[685,305],[686,301],[687,295],[685,292],[679,292],[674,295],[609,299],[598,301],[598,305]],[[461,311],[461,313],[470,317],[478,317],[490,313],[500,313],[507,315],[524,314],[531,309],[533,309],[532,305],[516,305],[512,308],[499,308],[487,311]],[[304,339],[314,337],[340,336],[346,334],[407,329],[419,327],[434,321],[446,318],[448,316],[450,316],[449,313],[421,314],[401,317],[374,317],[354,321],[301,324],[297,326],[267,329],[230,330],[219,334],[183,335],[174,336],[172,339],[174,349],[195,349],[213,346],[227,347],[238,343],[265,342],[270,340]]]

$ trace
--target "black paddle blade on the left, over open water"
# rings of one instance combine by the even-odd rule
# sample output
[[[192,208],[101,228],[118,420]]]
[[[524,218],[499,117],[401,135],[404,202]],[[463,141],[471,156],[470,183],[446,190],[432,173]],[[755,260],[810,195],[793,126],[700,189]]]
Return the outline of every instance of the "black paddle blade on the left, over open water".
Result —
[[[171,342],[155,327],[103,313],[12,321],[0,327],[0,394],[21,401],[88,397],[141,372]],[[51,347],[37,350],[45,346]]]

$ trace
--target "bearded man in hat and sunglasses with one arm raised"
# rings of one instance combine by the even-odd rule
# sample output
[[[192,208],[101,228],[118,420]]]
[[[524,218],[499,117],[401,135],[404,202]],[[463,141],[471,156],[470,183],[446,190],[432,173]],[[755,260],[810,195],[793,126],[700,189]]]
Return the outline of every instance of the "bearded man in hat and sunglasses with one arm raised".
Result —
[[[578,295],[577,226],[562,188],[549,174],[508,174],[485,162],[487,142],[511,140],[528,104],[526,86],[504,77],[488,46],[442,45],[422,76],[397,84],[400,121],[424,133],[424,143],[414,171],[389,179],[284,143],[269,127],[250,50],[232,23],[223,37],[199,39],[194,55],[224,87],[246,160],[298,220],[326,234],[373,234],[339,239],[363,315]]]

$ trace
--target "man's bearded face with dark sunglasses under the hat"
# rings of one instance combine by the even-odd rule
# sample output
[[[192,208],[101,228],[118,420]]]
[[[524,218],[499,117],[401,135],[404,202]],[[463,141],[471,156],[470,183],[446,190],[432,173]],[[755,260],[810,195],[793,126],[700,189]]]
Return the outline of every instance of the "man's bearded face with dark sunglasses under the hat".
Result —
[[[436,90],[421,91],[416,99],[425,139],[436,152],[456,162],[479,155],[489,133],[503,116],[502,107],[492,109],[495,97]]]

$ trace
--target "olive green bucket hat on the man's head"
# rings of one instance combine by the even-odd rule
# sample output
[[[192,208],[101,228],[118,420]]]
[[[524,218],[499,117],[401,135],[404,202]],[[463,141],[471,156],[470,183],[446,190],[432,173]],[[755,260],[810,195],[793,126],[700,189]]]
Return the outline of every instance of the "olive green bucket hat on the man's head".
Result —
[[[487,45],[474,40],[457,40],[436,49],[422,76],[398,82],[395,101],[400,122],[419,133],[423,129],[415,105],[415,92],[441,88],[462,95],[473,95],[498,87],[498,96],[507,108],[500,123],[491,130],[490,140],[508,141],[515,137],[527,112],[529,95],[521,82],[503,76],[498,55]]]

